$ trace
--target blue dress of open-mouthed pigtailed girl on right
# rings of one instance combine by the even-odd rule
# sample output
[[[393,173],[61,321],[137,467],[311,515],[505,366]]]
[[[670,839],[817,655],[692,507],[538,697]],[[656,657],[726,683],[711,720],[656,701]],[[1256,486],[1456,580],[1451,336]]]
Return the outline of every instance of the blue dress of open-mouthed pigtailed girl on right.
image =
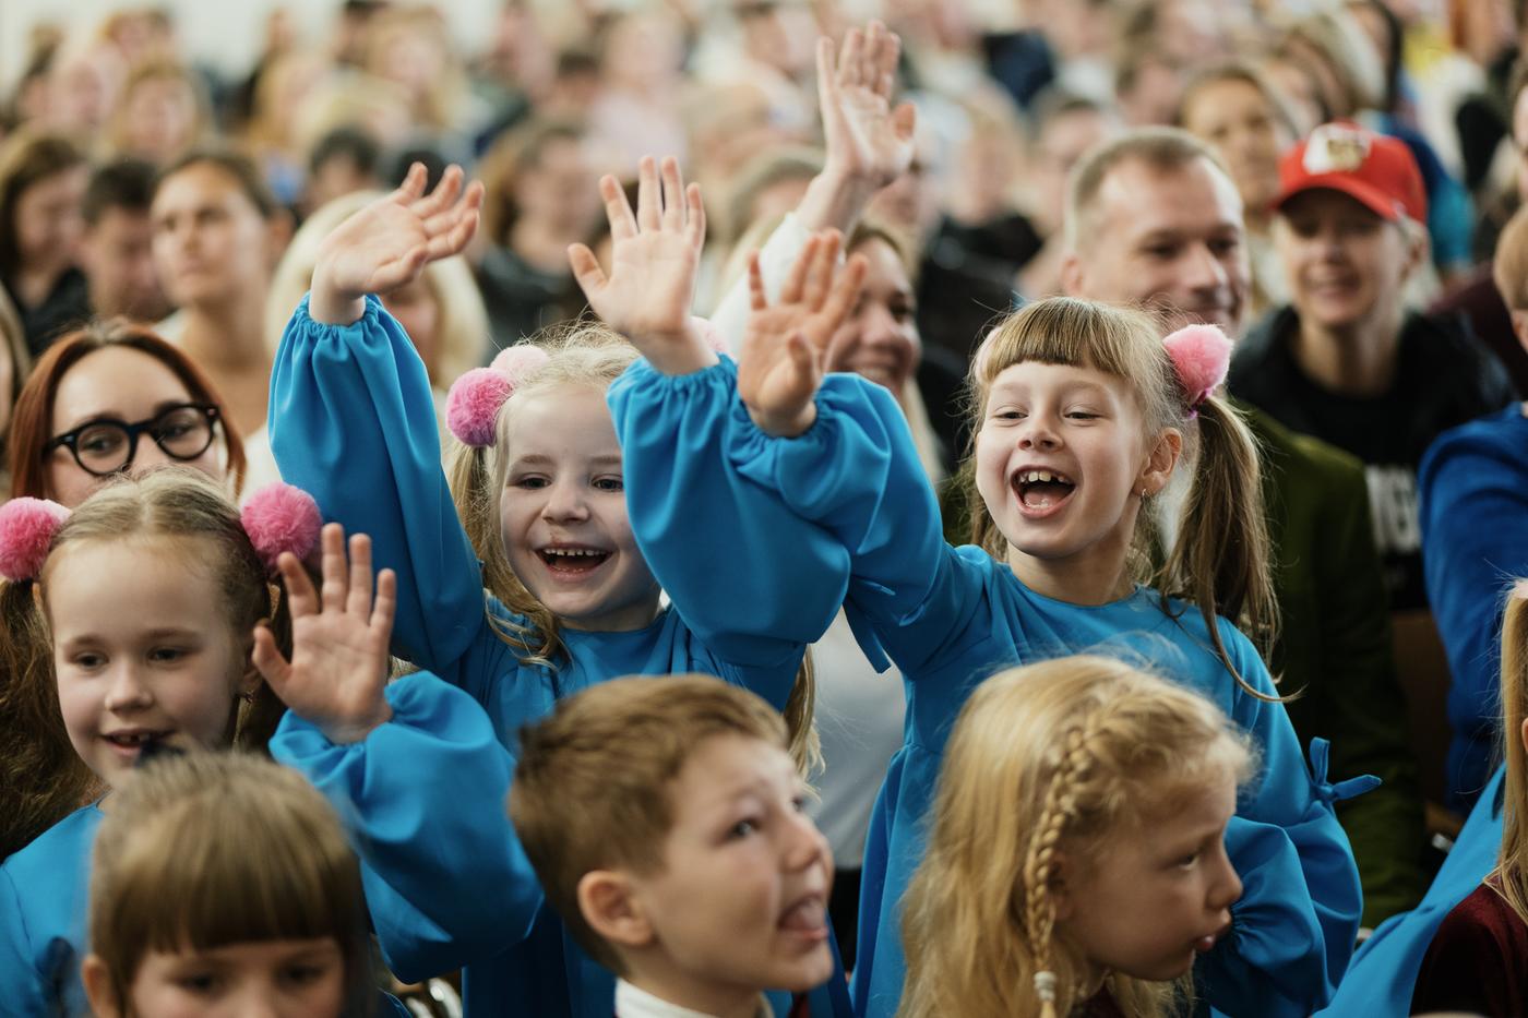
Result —
[[[730,379],[732,370],[723,364],[711,373]],[[617,426],[619,394],[643,388],[646,371],[633,367],[611,388]],[[718,384],[706,393],[730,399],[733,413],[746,416],[724,390]],[[692,396],[703,397],[701,390]],[[1284,706],[1233,680],[1210,650],[1196,608],[1175,602],[1164,613],[1148,588],[1097,607],[1063,604],[1027,590],[981,549],[944,544],[934,492],[886,390],[833,374],[816,402],[817,420],[804,436],[781,440],[738,430],[727,456],[740,478],[775,492],[848,550],[850,621],[871,660],[889,653],[905,676],[906,743],[892,760],[865,845],[856,1010],[879,1018],[900,1001],[906,966],[898,902],[923,858],[944,741],[970,689],[999,668],[1079,651],[1120,654],[1172,676],[1253,735],[1262,772],[1244,790],[1225,835],[1245,890],[1232,908],[1235,934],[1201,961],[1198,975],[1209,1003],[1232,1015],[1308,1015],[1323,1004],[1348,965],[1361,911],[1358,871],[1332,801],[1372,787],[1372,780],[1329,786],[1320,743],[1313,747],[1313,778]],[[646,478],[633,472],[628,485]],[[639,538],[649,530],[642,504],[633,495]],[[1271,694],[1251,644],[1224,619],[1218,627],[1236,669]]]

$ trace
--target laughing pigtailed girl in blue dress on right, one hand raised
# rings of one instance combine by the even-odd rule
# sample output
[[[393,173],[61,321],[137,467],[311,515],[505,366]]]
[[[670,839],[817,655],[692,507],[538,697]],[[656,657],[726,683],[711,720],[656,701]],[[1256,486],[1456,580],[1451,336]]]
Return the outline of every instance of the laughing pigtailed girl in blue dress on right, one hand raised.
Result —
[[[758,272],[752,289],[762,326],[772,306]],[[897,1007],[900,900],[923,854],[944,737],[972,685],[996,666],[1114,644],[1209,695],[1253,735],[1264,761],[1227,833],[1247,893],[1233,934],[1201,966],[1209,1003],[1229,1013],[1309,1013],[1335,986],[1357,934],[1361,894],[1331,802],[1360,786],[1328,784],[1322,751],[1313,752],[1313,780],[1262,659],[1229,621],[1264,634],[1271,604],[1256,451],[1213,394],[1229,342],[1201,327],[1164,344],[1144,315],[1068,298],[1008,318],[972,379],[981,546],[952,549],[891,394],[856,376],[816,384],[827,336],[802,329],[810,306],[793,312],[772,315],[744,344],[736,413],[759,430],[727,449],[730,469],[740,488],[750,481],[749,491],[782,498],[842,544],[856,631],[889,651],[908,691],[906,744],[866,844],[856,1009]],[[619,413],[617,426],[625,434]],[[674,457],[683,445],[677,433],[666,439]],[[1186,439],[1199,443],[1195,477],[1158,592],[1140,584],[1152,537],[1141,506],[1172,480]],[[646,485],[659,477],[633,471],[639,535],[649,523],[639,509],[654,497]]]

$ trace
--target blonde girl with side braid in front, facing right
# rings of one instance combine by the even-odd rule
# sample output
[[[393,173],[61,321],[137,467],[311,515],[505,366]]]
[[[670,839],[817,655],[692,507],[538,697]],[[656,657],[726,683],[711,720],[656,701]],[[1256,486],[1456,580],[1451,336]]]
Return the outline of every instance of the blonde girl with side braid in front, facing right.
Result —
[[[981,683],[903,905],[898,1016],[1164,1013],[1232,928],[1250,749],[1203,697],[1109,657]]]

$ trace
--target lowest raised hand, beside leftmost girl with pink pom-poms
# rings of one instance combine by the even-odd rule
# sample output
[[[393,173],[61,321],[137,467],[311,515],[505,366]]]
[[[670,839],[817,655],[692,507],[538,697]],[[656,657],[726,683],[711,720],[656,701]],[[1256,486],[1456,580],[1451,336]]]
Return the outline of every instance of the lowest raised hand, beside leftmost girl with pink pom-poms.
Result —
[[[384,569],[373,604],[371,538],[350,538],[347,567],[345,530],[330,523],[322,549],[322,598],[295,555],[286,552],[277,562],[292,607],[292,660],[281,656],[263,625],[255,630],[254,659],[298,717],[316,725],[332,743],[358,743],[393,717],[382,688],[397,581],[391,569]]]

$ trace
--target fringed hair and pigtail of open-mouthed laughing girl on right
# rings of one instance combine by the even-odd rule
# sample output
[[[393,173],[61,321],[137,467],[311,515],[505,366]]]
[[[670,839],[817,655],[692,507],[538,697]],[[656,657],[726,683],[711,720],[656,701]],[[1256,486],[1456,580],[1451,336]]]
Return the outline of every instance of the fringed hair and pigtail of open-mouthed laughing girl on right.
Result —
[[[983,344],[972,365],[972,433],[981,431],[992,384],[1005,368],[1038,361],[1093,368],[1123,379],[1135,393],[1143,437],[1167,428],[1196,440],[1190,481],[1177,541],[1160,567],[1151,549],[1160,544],[1155,515],[1140,512],[1131,572],[1157,587],[1161,608],[1180,598],[1199,608],[1210,644],[1221,663],[1251,695],[1268,700],[1236,669],[1221,639],[1216,616],[1224,614],[1265,651],[1277,631],[1277,604],[1268,566],[1268,527],[1264,520],[1258,445],[1241,413],[1221,396],[1210,396],[1190,414],[1187,394],[1163,345],[1157,321],[1144,313],[1073,297],[1034,301],[1004,319]],[[975,457],[970,457],[975,462]],[[973,486],[975,469],[963,480]],[[972,541],[995,558],[1007,555],[979,492],[969,492]]]

